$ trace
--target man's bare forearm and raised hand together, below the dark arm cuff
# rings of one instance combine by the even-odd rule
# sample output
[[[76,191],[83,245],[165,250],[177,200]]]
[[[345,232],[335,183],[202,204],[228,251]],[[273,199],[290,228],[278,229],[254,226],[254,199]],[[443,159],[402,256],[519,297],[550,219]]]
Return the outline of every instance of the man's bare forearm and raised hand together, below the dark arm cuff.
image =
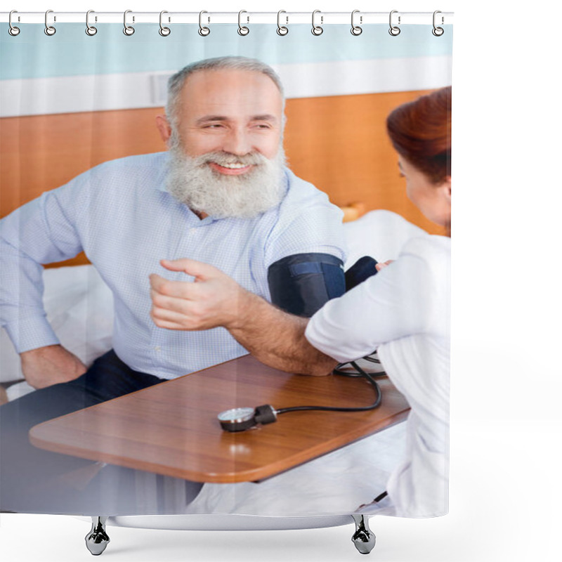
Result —
[[[192,275],[195,282],[150,275],[150,316],[158,327],[225,327],[256,359],[287,372],[323,375],[336,366],[336,360],[306,340],[307,318],[281,311],[207,263],[192,259],[160,263],[171,271]]]

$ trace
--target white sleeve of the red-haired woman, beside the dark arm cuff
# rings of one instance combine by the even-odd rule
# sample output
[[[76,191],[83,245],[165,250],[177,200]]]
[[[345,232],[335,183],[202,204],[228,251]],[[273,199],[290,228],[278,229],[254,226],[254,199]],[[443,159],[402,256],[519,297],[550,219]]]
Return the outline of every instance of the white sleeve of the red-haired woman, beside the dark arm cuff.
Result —
[[[369,355],[387,341],[424,332],[435,294],[432,277],[429,263],[406,251],[315,313],[306,339],[322,353],[347,362]]]

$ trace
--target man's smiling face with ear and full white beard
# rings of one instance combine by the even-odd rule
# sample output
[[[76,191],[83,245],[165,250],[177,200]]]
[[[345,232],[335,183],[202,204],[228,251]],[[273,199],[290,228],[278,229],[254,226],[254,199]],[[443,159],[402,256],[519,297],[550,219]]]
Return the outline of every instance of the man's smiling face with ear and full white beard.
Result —
[[[191,74],[172,122],[159,122],[171,157],[168,191],[200,218],[250,218],[275,207],[285,192],[282,112],[282,94],[266,74]]]

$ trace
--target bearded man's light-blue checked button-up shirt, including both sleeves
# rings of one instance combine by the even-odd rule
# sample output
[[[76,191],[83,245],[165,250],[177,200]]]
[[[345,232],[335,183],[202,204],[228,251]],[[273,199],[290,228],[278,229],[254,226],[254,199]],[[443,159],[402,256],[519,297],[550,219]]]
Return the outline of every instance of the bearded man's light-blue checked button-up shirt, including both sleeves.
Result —
[[[160,259],[211,263],[242,287],[270,299],[267,270],[306,252],[342,261],[341,210],[285,170],[282,202],[256,218],[203,220],[165,188],[167,153],[105,162],[45,192],[0,221],[1,321],[18,351],[58,344],[42,302],[41,263],[84,250],[114,295],[115,352],[133,370],[171,379],[246,353],[223,328],[181,332],[150,318],[150,273]]]

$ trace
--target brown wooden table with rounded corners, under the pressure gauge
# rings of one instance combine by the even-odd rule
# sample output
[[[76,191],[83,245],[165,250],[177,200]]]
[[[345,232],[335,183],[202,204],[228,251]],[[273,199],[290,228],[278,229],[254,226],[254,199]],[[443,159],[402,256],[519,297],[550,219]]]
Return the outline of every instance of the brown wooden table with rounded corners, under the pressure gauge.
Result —
[[[244,355],[121,398],[34,426],[47,450],[197,482],[258,481],[405,419],[409,407],[379,379],[382,404],[370,412],[290,412],[241,433],[221,429],[217,414],[271,404],[366,406],[365,379],[287,374]]]

